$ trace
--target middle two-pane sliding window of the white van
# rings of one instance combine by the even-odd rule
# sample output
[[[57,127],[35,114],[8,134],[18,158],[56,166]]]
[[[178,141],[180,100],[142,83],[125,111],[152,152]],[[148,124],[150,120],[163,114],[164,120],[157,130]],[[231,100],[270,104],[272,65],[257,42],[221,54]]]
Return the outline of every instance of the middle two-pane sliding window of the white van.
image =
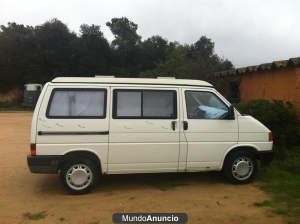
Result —
[[[176,119],[175,90],[113,90],[113,118]]]

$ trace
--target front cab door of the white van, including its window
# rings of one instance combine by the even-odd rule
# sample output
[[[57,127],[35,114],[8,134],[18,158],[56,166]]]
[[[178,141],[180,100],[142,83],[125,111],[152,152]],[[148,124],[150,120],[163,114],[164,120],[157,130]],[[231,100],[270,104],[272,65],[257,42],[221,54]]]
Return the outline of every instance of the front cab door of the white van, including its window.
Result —
[[[222,156],[237,144],[238,123],[226,119],[229,104],[213,89],[182,88],[186,170],[220,167]]]

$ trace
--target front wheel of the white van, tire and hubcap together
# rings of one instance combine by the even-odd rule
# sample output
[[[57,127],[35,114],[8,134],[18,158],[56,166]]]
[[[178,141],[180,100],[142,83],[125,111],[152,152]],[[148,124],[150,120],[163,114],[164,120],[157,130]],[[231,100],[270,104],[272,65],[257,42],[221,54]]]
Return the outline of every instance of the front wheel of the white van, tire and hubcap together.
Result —
[[[257,162],[250,152],[235,151],[224,161],[222,171],[231,183],[245,184],[255,177]]]

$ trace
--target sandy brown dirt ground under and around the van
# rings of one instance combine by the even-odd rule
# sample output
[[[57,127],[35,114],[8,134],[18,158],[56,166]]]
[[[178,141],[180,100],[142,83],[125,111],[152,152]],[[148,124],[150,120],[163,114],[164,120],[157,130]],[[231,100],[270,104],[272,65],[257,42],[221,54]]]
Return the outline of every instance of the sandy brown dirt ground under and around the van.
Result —
[[[114,212],[186,212],[188,223],[285,222],[252,205],[269,198],[257,181],[233,185],[220,172],[104,175],[90,194],[68,195],[57,174],[28,170],[31,116],[0,113],[0,223],[112,223]],[[148,184],[165,180],[183,185],[163,191]],[[43,210],[44,219],[22,216]]]

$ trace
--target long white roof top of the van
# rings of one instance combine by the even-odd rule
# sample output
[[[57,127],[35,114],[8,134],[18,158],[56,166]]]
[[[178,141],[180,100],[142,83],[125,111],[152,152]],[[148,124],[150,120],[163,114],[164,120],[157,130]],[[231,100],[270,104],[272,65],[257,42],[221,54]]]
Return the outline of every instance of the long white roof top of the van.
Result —
[[[117,83],[117,84],[155,84],[155,85],[191,85],[213,87],[212,84],[195,79],[167,78],[103,78],[103,77],[57,77],[53,83]]]

